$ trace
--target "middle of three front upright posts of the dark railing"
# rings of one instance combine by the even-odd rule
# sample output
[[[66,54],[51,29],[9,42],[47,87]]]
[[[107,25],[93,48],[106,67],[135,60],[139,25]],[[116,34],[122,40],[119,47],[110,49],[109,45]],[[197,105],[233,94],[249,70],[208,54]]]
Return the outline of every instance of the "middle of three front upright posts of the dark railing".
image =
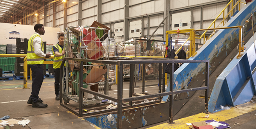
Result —
[[[171,95],[169,95],[170,98],[170,105],[169,105],[169,122],[170,124],[173,124],[173,72],[174,72],[174,63],[170,63],[170,92],[172,92]]]

